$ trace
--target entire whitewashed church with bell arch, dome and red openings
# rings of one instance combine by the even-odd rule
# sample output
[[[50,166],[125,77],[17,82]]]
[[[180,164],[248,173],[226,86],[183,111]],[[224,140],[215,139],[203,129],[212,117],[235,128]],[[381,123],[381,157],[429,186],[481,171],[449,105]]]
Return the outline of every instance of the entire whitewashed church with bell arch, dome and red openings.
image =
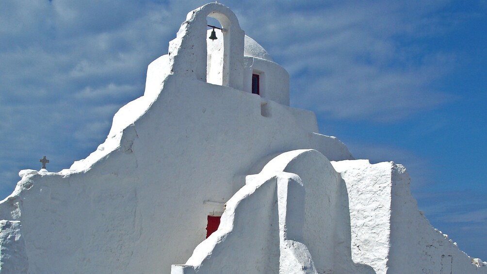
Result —
[[[289,107],[288,73],[219,3],[188,13],[105,143],[19,175],[0,274],[487,274],[402,165],[354,160]]]

